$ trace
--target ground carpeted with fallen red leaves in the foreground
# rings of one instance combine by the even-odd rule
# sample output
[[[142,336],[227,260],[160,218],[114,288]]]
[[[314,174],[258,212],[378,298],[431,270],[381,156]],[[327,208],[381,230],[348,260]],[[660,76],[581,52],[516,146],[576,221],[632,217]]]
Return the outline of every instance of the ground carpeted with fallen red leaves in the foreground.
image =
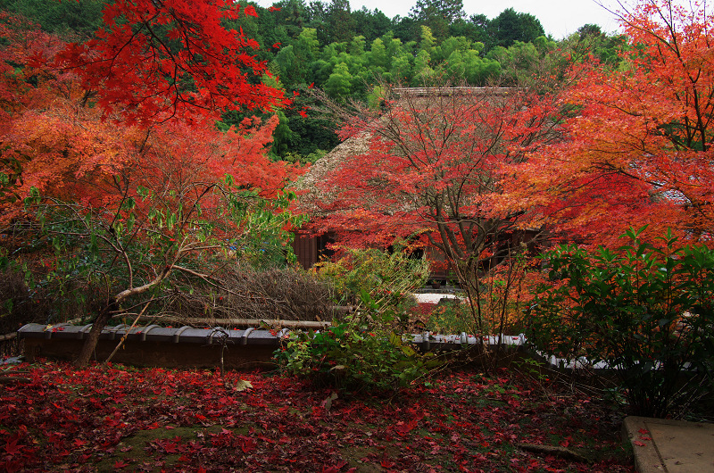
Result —
[[[26,382],[0,385],[4,471],[634,471],[619,416],[513,371],[385,398],[264,373],[9,370]]]

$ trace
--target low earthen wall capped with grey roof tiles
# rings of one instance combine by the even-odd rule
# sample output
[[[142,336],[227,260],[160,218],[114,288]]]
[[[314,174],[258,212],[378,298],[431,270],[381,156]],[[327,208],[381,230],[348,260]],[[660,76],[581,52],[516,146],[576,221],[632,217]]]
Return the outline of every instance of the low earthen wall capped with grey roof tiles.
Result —
[[[27,361],[38,357],[75,360],[84,344],[91,325],[72,326],[59,324],[44,326],[28,324],[18,331],[24,344]],[[163,328],[157,325],[130,328],[119,325],[104,328],[99,336],[93,359],[105,361],[122,336],[127,336],[123,347],[114,354],[112,361],[137,366],[165,368],[211,368],[220,366],[223,350],[223,365],[227,369],[255,369],[273,366],[272,355],[279,348],[281,339],[289,333],[282,330],[226,329],[226,328]],[[422,351],[452,352],[464,347],[475,347],[481,340],[466,334],[441,336],[428,332],[407,336],[411,343]],[[496,336],[485,337],[485,344],[497,344]],[[522,336],[504,336],[502,344],[511,349],[523,346]]]

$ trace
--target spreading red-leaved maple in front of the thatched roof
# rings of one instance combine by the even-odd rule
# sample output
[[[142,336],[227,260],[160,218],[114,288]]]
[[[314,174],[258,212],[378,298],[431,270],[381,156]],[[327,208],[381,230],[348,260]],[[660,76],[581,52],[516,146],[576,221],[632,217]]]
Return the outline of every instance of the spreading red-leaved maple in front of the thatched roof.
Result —
[[[552,97],[499,88],[395,93],[378,120],[345,129],[367,150],[347,154],[320,184],[320,225],[350,245],[424,238],[476,302],[480,276],[513,249],[507,235],[523,229],[524,209],[502,205],[504,182],[554,138]],[[482,330],[479,307],[474,320]]]

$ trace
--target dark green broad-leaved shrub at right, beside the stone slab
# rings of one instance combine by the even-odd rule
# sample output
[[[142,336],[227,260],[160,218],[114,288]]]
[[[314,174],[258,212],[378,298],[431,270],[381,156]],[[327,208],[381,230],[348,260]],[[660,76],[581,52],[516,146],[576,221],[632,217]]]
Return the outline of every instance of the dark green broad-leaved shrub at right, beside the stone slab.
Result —
[[[630,229],[629,245],[544,254],[552,283],[535,297],[528,339],[569,360],[615,369],[629,408],[664,417],[710,392],[714,378],[714,250],[656,247]]]

